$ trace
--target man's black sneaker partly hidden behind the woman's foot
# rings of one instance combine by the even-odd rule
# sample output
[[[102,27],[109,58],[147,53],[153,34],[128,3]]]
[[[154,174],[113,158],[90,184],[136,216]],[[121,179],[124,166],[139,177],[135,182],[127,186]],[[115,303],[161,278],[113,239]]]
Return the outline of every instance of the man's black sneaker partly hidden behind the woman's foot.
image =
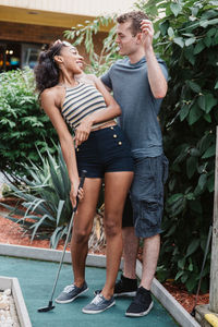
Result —
[[[137,279],[131,279],[121,275],[120,280],[116,282],[113,296],[135,296],[137,291]],[[99,294],[101,290],[96,290],[95,295]]]

